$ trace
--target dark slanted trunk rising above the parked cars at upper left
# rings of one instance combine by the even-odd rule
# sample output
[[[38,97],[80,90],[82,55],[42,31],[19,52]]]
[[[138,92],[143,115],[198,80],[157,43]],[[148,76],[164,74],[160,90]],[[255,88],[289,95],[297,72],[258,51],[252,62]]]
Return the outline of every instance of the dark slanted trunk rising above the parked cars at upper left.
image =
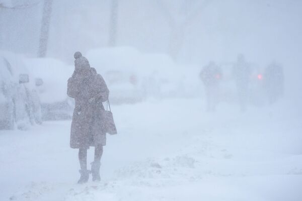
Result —
[[[44,0],[38,57],[46,56],[52,1]]]

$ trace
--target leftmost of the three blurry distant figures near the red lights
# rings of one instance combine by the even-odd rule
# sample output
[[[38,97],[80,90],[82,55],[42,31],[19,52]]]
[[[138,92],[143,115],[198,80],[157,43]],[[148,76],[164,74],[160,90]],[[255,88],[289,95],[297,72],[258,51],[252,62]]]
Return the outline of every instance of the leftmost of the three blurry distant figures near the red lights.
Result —
[[[218,90],[221,74],[219,66],[213,61],[204,66],[199,74],[205,88],[207,112],[214,112],[218,103]]]

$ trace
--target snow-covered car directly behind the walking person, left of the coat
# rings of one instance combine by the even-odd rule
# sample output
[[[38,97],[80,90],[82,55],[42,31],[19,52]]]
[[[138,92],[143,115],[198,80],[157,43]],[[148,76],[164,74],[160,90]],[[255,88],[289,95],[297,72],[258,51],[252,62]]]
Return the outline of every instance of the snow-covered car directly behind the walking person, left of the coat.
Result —
[[[52,58],[27,58],[24,62],[36,77],[42,120],[71,119],[74,100],[67,96],[66,91],[67,80],[74,67]]]

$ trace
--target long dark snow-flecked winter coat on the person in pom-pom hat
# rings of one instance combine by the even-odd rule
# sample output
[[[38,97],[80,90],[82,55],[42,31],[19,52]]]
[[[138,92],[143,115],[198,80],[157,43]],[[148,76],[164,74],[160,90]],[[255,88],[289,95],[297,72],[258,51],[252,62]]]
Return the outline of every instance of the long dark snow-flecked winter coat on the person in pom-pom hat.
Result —
[[[67,95],[74,98],[70,147],[86,148],[106,145],[104,107],[109,90],[100,74],[94,68],[87,73],[74,72],[68,79]]]

